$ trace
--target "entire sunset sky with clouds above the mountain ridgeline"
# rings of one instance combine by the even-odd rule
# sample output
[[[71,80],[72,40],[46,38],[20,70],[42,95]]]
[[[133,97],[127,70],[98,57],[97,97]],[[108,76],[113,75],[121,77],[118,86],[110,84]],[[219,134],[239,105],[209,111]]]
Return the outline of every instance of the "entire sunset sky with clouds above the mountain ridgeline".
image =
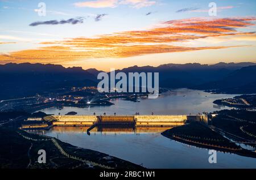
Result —
[[[256,62],[255,10],[254,0],[0,0],[0,64]]]

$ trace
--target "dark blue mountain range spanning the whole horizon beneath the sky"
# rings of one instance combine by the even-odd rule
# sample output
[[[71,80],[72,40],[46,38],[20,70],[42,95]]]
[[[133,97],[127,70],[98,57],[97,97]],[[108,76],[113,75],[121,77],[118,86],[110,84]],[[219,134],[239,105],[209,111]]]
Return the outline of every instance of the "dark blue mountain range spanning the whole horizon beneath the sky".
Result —
[[[133,66],[116,72],[159,72],[160,87],[216,89],[226,93],[256,93],[256,63],[166,64],[158,67]],[[97,85],[95,68],[65,68],[40,63],[7,63],[0,65],[0,100],[33,96],[54,89]],[[243,92],[243,89],[245,91]]]

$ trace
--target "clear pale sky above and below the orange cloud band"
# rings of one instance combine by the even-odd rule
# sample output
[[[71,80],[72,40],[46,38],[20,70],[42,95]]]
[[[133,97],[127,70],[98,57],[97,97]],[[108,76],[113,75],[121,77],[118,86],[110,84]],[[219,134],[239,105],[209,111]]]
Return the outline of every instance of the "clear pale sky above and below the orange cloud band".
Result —
[[[39,16],[38,3],[46,3],[46,16]],[[77,3],[82,2],[82,7]],[[88,4],[89,2],[89,4]],[[212,1],[166,1],[166,0],[71,0],[71,1],[24,1],[24,0],[0,0],[0,53],[10,54],[26,49],[36,49],[43,45],[40,42],[63,41],[66,38],[76,37],[95,37],[98,35],[112,34],[116,32],[126,31],[143,31],[145,29],[158,27],[159,24],[170,20],[182,20],[191,18],[209,18],[208,10],[209,3]],[[255,17],[256,1],[214,1],[217,5],[217,16],[214,18],[234,18],[234,17]],[[98,5],[104,5],[98,8]],[[85,6],[84,6],[85,5]],[[89,6],[88,6],[89,5]],[[113,5],[113,6],[111,6]],[[92,7],[93,6],[93,7]],[[180,11],[179,11],[180,10]],[[178,12],[177,12],[178,11]],[[96,22],[97,15],[102,15],[102,18]],[[148,14],[148,15],[146,15]],[[82,17],[83,22],[78,24],[57,24],[57,25],[36,25],[31,26],[34,22],[47,22],[50,20],[68,20]],[[253,20],[254,21],[254,20]],[[254,23],[254,22],[253,22]],[[254,32],[255,25],[238,29],[239,32]],[[5,43],[6,42],[6,43]],[[7,42],[14,42],[8,44]],[[216,41],[214,41],[215,43]],[[179,43],[179,42],[178,42]],[[197,45],[205,46],[204,41]],[[234,42],[220,42],[218,46],[233,44]],[[193,44],[193,42],[192,42]],[[236,45],[249,45],[249,48],[240,48],[240,54],[251,53],[250,59],[242,58],[241,61],[256,61],[255,59],[255,41],[239,41]],[[231,48],[232,49],[232,48]],[[63,63],[64,66],[79,65],[84,68],[89,66],[99,67],[104,65],[125,67],[130,65],[158,65],[161,63],[214,63],[220,61],[221,55],[225,52],[230,52],[231,49],[212,50],[220,54],[216,60],[212,58],[203,59],[191,58],[204,57],[208,50],[199,50],[196,52],[181,52],[181,53],[147,53],[141,55],[133,55],[131,57],[115,57],[106,58],[83,58],[82,61],[71,61]],[[235,48],[234,48],[235,49]],[[237,52],[237,49],[235,50]],[[214,54],[216,54],[214,52]],[[187,53],[187,54],[186,54]],[[200,55],[201,53],[201,55]],[[228,53],[229,54],[229,53]],[[155,57],[159,58],[159,62],[155,63]],[[239,61],[238,58],[233,59],[234,55],[230,52],[230,57],[223,57],[223,61]],[[184,59],[188,60],[185,61]],[[248,58],[246,56],[246,58]],[[141,59],[141,60],[139,60]],[[2,61],[2,62],[1,62]],[[16,62],[15,59],[2,59],[0,63]],[[24,59],[26,61],[26,59]],[[39,61],[40,62],[40,61]],[[59,62],[59,61],[58,61]],[[43,62],[44,63],[44,62]],[[57,63],[49,59],[49,63]]]

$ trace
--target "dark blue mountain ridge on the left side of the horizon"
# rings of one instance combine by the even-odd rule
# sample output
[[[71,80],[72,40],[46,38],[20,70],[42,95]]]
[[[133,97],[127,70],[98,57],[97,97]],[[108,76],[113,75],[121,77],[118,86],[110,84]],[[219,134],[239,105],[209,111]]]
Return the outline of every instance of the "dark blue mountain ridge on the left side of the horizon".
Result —
[[[0,99],[34,96],[54,89],[97,85],[95,76],[81,67],[40,63],[0,65]]]

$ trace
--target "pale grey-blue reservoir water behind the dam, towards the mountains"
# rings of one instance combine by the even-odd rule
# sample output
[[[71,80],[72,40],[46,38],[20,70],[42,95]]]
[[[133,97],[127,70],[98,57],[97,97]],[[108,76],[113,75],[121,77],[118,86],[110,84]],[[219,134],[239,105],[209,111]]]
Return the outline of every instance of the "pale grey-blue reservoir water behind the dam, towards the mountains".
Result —
[[[94,106],[89,108],[64,107],[63,109],[48,108],[41,110],[47,114],[61,115],[68,112],[77,112],[77,114],[101,115],[122,114],[132,115],[136,112],[140,114],[198,114],[203,112],[213,112],[221,109],[231,109],[225,106],[214,105],[213,101],[221,98],[231,98],[236,95],[210,94],[203,91],[191,89],[177,89],[172,92],[163,93],[156,99],[141,99],[141,102],[123,101],[115,99],[111,102],[112,106]]]

